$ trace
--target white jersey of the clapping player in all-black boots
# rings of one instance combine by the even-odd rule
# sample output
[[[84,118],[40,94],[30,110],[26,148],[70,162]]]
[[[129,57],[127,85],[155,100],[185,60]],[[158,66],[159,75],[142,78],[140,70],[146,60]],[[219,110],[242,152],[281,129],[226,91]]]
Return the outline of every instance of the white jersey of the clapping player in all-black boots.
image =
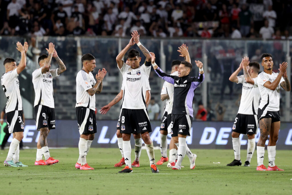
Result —
[[[260,90],[257,82],[258,77],[253,78],[254,84],[247,83],[244,75],[238,76],[237,79],[237,84],[242,83],[241,100],[238,113],[248,115],[258,114],[258,102],[260,100]]]

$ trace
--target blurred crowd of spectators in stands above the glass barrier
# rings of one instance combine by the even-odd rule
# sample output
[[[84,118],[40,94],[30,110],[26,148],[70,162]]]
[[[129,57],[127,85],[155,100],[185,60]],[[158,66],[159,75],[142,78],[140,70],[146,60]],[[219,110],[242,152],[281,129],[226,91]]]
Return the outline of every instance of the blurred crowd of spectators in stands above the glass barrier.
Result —
[[[0,2],[1,35],[292,38],[291,0]]]

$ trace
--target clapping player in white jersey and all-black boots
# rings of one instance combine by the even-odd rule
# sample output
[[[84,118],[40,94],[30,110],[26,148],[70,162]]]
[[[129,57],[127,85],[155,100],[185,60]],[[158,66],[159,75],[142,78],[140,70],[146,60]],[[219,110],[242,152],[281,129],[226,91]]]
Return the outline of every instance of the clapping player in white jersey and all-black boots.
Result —
[[[243,69],[244,75],[237,76]],[[244,57],[237,68],[232,73],[229,80],[237,84],[242,83],[241,100],[235,122],[232,126],[232,146],[234,150],[234,160],[227,166],[240,166],[240,134],[247,134],[247,156],[244,162],[245,167],[250,166],[251,157],[256,147],[255,134],[258,130],[258,102],[260,91],[258,89],[257,77],[260,71],[258,62],[249,62],[248,57]]]

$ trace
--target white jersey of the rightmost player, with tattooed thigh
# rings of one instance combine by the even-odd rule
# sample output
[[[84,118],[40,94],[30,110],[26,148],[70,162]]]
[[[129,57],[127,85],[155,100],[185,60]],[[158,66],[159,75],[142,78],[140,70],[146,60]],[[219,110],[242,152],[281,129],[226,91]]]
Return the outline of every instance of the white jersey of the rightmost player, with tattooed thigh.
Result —
[[[280,84],[285,81],[282,77],[277,88],[273,91],[264,87],[265,82],[270,81],[271,83],[277,78],[279,73],[267,74],[264,71],[258,75],[258,87],[260,89],[260,105],[259,108],[265,107],[266,111],[279,111],[280,110]]]

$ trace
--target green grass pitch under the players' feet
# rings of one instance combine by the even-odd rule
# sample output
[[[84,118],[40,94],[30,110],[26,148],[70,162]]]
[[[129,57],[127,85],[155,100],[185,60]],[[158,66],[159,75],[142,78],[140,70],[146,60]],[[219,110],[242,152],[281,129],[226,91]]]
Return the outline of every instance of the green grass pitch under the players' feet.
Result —
[[[75,169],[78,148],[51,149],[51,156],[60,160],[51,166],[34,166],[36,149],[21,150],[20,161],[29,165],[23,168],[4,167],[6,149],[0,151],[0,194],[292,194],[292,151],[277,150],[276,164],[285,171],[256,171],[256,153],[250,167],[227,167],[234,159],[232,150],[191,151],[198,156],[194,170],[185,156],[182,170],[164,163],[157,165],[158,174],[152,173],[142,150],[140,167],[119,174],[122,168],[114,167],[121,158],[118,149],[91,148],[87,162],[92,171]],[[159,150],[155,157],[161,157]],[[241,150],[241,161],[245,159],[246,150]],[[264,163],[268,166],[267,151]]]

